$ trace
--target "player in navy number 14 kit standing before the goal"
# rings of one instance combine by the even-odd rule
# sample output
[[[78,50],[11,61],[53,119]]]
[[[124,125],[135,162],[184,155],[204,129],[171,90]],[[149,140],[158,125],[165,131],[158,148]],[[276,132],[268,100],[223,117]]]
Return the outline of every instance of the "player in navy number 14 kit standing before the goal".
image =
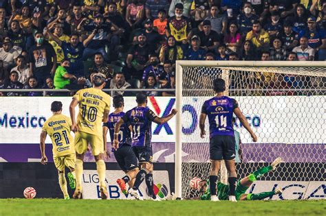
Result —
[[[243,127],[248,130],[252,140],[257,142],[257,136],[252,132],[246,117],[243,116],[235,99],[226,97],[226,82],[222,79],[213,81],[215,97],[208,99],[202,106],[202,113],[199,118],[200,136],[206,135],[205,121],[208,116],[210,130],[210,194],[212,201],[219,201],[217,197],[217,175],[224,159],[228,169],[230,184],[229,200],[237,202],[235,198],[235,187],[237,182],[237,171],[235,171],[235,133],[232,127],[233,113],[238,117]]]

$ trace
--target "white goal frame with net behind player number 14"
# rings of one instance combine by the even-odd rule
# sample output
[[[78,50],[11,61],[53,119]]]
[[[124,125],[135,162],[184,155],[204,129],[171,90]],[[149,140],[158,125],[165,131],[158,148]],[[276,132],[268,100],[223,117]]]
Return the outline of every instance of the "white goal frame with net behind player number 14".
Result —
[[[213,80],[226,80],[228,96],[257,134],[250,134],[236,119],[242,154],[238,178],[281,156],[285,163],[260,180],[312,181],[325,173],[326,65],[325,62],[177,61],[176,193],[196,197],[189,187],[193,177],[208,179],[209,125],[199,136],[199,115],[204,101],[213,97]],[[226,182],[227,173],[221,180]]]

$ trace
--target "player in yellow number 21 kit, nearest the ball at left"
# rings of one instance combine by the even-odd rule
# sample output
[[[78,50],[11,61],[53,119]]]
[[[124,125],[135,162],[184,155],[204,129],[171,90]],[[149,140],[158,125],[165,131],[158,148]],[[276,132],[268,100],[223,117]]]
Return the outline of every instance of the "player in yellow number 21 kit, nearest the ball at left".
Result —
[[[61,114],[62,108],[63,104],[61,104],[61,101],[54,101],[51,104],[53,116],[45,121],[40,137],[41,163],[43,165],[47,163],[47,157],[45,156],[45,139],[47,134],[49,134],[52,140],[53,161],[54,165],[56,165],[56,169],[58,169],[61,191],[63,191],[65,200],[69,200],[70,197],[67,191],[67,182],[65,180],[65,167],[68,167],[71,171],[67,176],[70,187],[74,189],[76,187],[74,171],[76,154],[74,139],[70,134],[72,121],[69,117]]]

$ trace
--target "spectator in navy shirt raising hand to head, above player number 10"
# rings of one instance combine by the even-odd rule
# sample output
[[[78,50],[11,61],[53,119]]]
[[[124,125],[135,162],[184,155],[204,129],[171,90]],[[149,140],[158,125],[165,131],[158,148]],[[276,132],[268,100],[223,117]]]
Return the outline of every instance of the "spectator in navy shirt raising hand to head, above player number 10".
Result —
[[[94,32],[94,37],[84,50],[83,58],[91,58],[95,53],[100,52],[105,60],[108,60],[105,45],[109,42],[112,32],[117,30],[116,27],[114,27],[112,23],[104,23],[102,14],[96,14],[94,21],[89,23],[89,25],[84,25],[85,21],[87,21],[87,19],[84,18],[77,29]]]

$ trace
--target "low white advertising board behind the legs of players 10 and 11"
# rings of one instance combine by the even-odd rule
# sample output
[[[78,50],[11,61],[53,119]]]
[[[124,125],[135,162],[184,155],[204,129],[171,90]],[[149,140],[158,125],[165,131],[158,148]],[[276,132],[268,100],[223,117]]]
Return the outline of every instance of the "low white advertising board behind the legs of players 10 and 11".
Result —
[[[130,194],[124,195],[120,190],[116,180],[124,176],[123,171],[107,170],[105,182],[107,184],[107,191],[109,193],[108,199],[120,199],[120,200],[134,200],[135,197]],[[163,199],[166,195],[171,193],[169,172],[153,171],[154,180],[154,193]],[[128,186],[127,186],[128,189]],[[146,192],[146,183],[140,184],[139,193],[144,199],[149,199],[149,195]],[[84,170],[83,173],[83,199],[98,200],[100,199],[100,189],[98,183],[98,173],[96,170]]]

